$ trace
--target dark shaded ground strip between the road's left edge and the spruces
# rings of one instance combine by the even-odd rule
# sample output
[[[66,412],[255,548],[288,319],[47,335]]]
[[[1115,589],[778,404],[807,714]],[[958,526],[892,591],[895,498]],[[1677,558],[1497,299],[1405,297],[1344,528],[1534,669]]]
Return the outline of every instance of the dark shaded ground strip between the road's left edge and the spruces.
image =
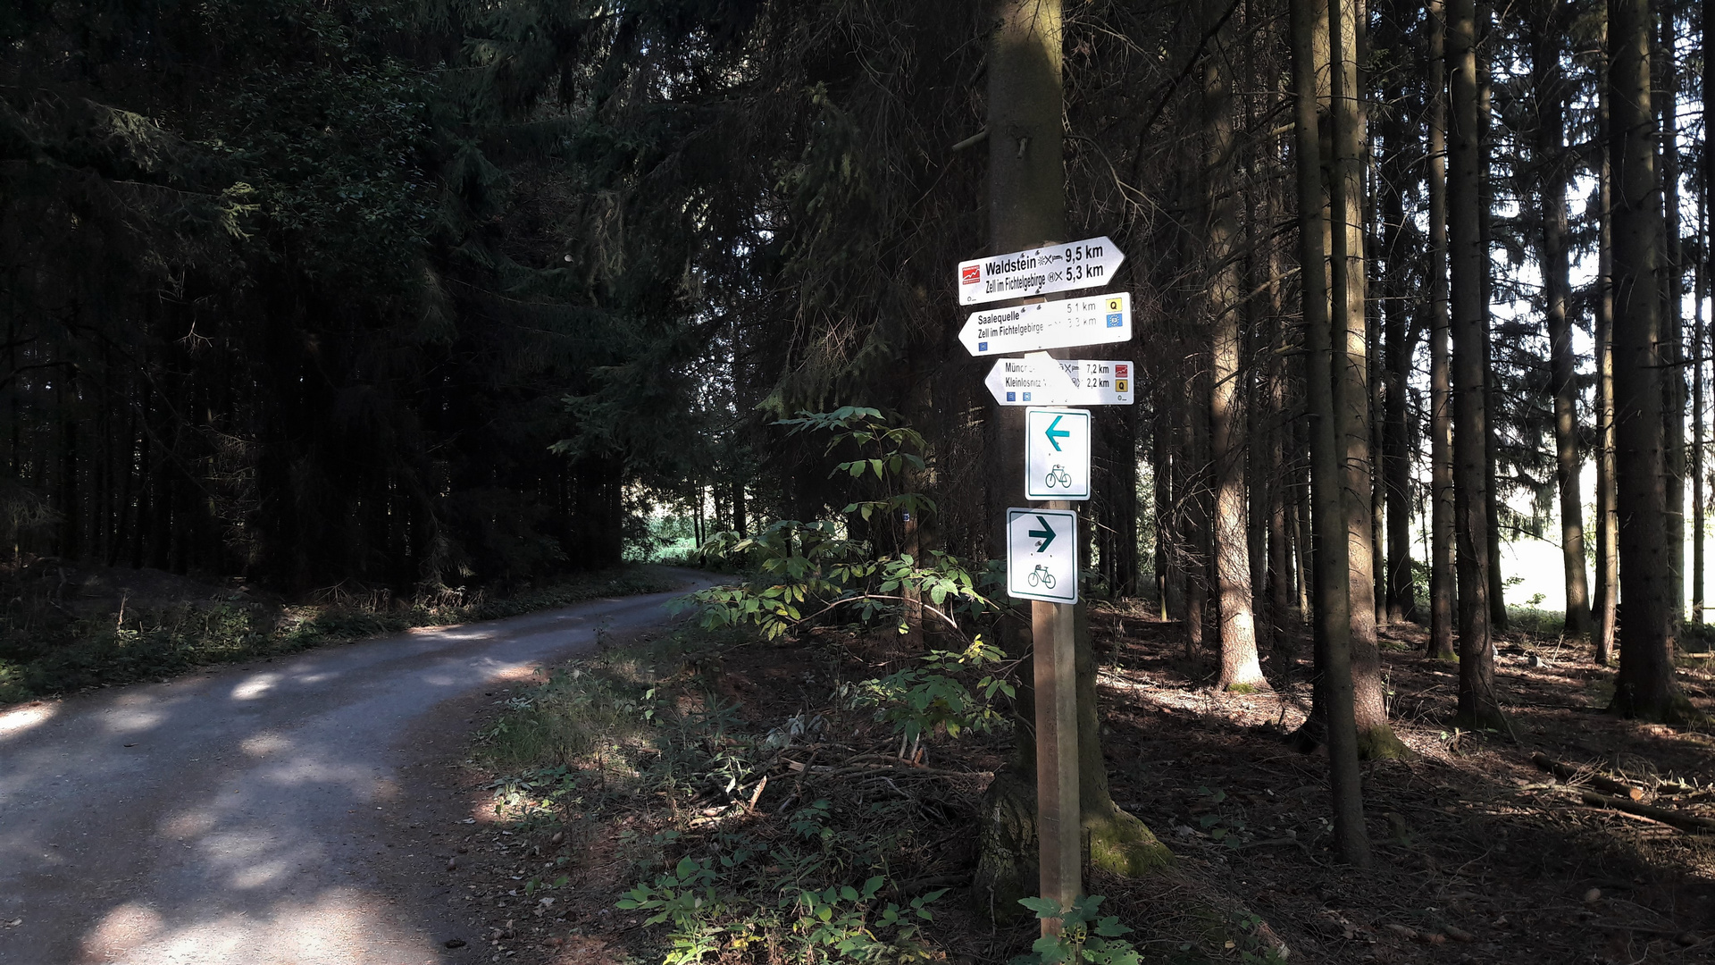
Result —
[[[38,561],[0,579],[0,706],[87,687],[156,680],[412,627],[497,620],[585,599],[664,592],[683,577],[614,567],[511,589],[396,599],[355,584],[300,601],[129,567]]]

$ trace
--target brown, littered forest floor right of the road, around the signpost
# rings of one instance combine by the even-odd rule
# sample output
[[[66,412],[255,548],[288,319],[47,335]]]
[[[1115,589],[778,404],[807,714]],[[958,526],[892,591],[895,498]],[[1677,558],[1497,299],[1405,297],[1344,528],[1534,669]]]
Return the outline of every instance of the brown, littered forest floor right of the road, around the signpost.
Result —
[[[1218,694],[1180,625],[1140,604],[1091,610],[1113,797],[1178,859],[1086,881],[1144,962],[1278,962],[1279,944],[1295,962],[1715,960],[1715,836],[1585,797],[1629,785],[1643,805],[1715,819],[1715,738],[1604,713],[1612,671],[1588,649],[1507,635],[1511,733],[1468,733],[1449,723],[1456,666],[1418,656],[1417,627],[1386,632],[1411,756],[1365,764],[1375,867],[1353,871],[1329,852],[1326,757],[1283,740],[1309,706],[1307,640],[1300,659],[1266,661],[1274,692]],[[882,960],[1027,951],[1034,922],[996,929],[969,893],[976,807],[1010,737],[926,738],[912,762],[844,699],[911,659],[888,637],[681,630],[499,694],[461,773],[460,821],[473,824],[446,855],[466,910],[460,951],[811,962],[864,922],[887,938],[882,905],[909,917],[911,898],[933,924]],[[1684,663],[1681,685],[1715,711],[1715,677]],[[1576,771],[1556,778],[1535,754]],[[858,893],[878,867],[880,889]],[[628,893],[641,907],[619,907]]]

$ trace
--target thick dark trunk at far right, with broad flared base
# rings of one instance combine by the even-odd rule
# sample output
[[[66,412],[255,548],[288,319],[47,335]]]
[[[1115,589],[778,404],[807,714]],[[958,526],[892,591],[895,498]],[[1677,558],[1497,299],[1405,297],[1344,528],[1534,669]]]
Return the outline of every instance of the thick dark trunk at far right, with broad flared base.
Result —
[[[1619,623],[1614,709],[1646,719],[1689,711],[1674,682],[1672,548],[1667,543],[1665,331],[1657,287],[1662,187],[1655,170],[1650,2],[1609,0],[1609,163],[1614,208],[1614,440]]]

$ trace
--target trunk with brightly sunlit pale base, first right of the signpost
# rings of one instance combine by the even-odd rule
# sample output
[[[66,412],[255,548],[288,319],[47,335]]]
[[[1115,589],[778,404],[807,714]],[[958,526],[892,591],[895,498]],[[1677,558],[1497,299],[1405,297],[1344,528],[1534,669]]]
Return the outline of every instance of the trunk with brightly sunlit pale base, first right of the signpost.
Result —
[[[1243,354],[1242,264],[1233,161],[1231,19],[1214,31],[1202,69],[1204,258],[1209,266],[1209,462],[1214,476],[1211,556],[1219,620],[1221,690],[1266,690],[1252,611],[1250,543],[1245,527],[1245,414],[1240,391]]]

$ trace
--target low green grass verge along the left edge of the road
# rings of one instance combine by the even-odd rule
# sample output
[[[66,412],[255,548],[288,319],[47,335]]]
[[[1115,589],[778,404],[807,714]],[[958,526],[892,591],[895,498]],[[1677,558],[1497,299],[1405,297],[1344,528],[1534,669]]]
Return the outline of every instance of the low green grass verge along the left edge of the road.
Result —
[[[0,620],[0,704],[154,680],[197,666],[281,656],[412,627],[496,620],[607,596],[664,592],[679,582],[653,567],[619,567],[502,598],[478,592],[468,599],[446,594],[393,601],[386,596],[328,594],[319,603],[278,604],[232,592],[221,599],[158,606],[127,601],[118,613],[79,615],[45,606],[29,616],[7,615]]]

